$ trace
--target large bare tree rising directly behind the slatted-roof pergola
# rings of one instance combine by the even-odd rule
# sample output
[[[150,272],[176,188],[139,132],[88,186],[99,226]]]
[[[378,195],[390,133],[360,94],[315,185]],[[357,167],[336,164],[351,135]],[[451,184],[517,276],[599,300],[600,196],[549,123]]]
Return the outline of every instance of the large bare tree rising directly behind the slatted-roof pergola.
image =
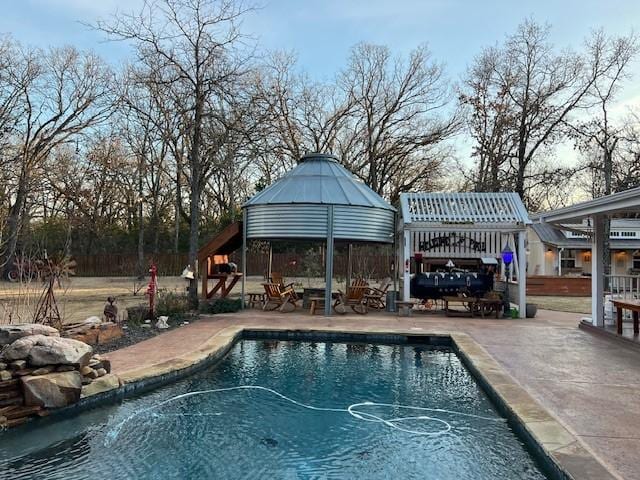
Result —
[[[478,187],[495,188],[499,175],[490,173],[488,185],[482,177],[487,169],[501,170],[502,188],[513,189],[535,210],[536,190],[566,178],[567,172],[547,159],[566,138],[571,115],[593,105],[596,84],[618,67],[619,57],[601,47],[596,39],[583,54],[556,52],[549,26],[527,20],[502,46],[476,57],[461,100],[476,140]]]

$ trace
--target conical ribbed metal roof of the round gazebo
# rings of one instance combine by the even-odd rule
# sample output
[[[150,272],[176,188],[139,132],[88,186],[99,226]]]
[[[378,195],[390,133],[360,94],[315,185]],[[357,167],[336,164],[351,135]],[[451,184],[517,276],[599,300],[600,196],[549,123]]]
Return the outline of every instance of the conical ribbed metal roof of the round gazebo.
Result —
[[[318,153],[302,157],[293,170],[243,206],[290,203],[354,205],[395,211],[380,195],[356,180],[336,157]]]

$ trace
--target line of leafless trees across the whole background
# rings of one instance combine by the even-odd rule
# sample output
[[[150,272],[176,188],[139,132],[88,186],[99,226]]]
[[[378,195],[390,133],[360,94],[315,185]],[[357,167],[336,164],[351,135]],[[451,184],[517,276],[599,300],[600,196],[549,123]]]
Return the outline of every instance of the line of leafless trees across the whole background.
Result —
[[[397,55],[360,43],[322,82],[242,30],[251,10],[147,1],[91,25],[132,47],[124,66],[3,37],[5,270],[35,247],[136,251],[141,270],[149,252],[195,263],[202,239],[312,151],[334,153],[392,202],[410,190],[516,191],[535,211],[638,184],[638,112],[613,114],[633,34],[592,32],[572,51],[525,20],[458,80],[425,45]],[[567,142],[577,164],[554,154]]]

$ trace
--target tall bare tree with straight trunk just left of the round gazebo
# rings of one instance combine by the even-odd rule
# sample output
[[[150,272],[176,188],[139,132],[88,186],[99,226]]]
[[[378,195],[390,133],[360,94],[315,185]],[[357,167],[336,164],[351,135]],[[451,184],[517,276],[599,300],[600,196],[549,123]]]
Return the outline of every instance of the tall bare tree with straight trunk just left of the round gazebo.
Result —
[[[244,58],[237,52],[242,39],[238,20],[245,12],[233,0],[145,0],[138,14],[119,14],[111,22],[97,25],[112,38],[132,41],[139,59],[162,71],[163,87],[187,96],[182,108],[190,117],[189,261],[194,267],[207,162],[201,152],[202,129],[209,115],[207,101],[225,92],[242,73]],[[194,306],[198,303],[197,289],[196,280],[192,280],[189,296]]]

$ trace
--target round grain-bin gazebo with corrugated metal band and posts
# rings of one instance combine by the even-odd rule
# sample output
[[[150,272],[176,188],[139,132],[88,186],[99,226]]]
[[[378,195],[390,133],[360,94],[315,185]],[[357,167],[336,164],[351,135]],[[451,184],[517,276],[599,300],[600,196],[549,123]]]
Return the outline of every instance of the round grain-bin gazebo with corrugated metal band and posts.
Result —
[[[312,153],[243,206],[242,298],[249,240],[326,242],[325,314],[331,314],[334,242],[393,243],[395,208],[333,155]]]

